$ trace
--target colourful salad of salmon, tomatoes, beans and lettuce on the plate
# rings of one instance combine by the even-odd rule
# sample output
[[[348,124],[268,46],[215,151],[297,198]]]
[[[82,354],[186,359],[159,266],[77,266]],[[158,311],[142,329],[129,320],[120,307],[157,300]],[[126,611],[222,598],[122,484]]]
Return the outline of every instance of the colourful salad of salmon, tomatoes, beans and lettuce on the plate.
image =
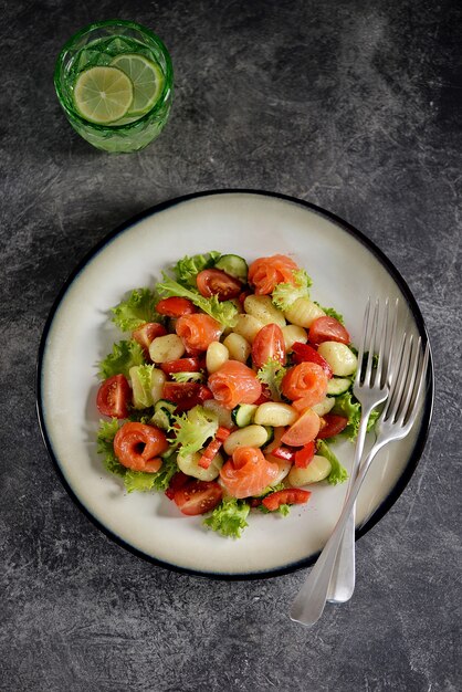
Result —
[[[125,338],[99,363],[97,445],[127,492],[239,537],[251,511],[286,515],[347,480],[330,442],[357,436],[358,361],[311,284],[286,255],[212,251],[112,310]]]

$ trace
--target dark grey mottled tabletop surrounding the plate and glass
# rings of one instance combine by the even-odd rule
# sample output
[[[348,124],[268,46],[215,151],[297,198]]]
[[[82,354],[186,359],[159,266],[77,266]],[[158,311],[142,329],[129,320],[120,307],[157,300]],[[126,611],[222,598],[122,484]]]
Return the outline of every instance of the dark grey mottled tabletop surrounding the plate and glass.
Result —
[[[95,6],[2,3],[0,689],[460,690],[460,3]],[[92,149],[53,91],[63,42],[111,17],[157,31],[176,70],[171,120],[138,155]],[[208,581],[108,541],[63,490],[35,418],[40,335],[76,261],[134,213],[227,187],[297,196],[365,232],[434,350],[422,460],[358,543],[353,600],[313,630],[287,616],[303,573]]]

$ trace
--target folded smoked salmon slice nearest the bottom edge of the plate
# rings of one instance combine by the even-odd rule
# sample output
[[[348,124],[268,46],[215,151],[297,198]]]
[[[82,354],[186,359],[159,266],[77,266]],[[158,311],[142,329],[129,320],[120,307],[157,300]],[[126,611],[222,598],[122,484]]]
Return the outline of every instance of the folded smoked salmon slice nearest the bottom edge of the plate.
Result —
[[[220,471],[224,489],[233,497],[259,495],[271,485],[279,474],[279,465],[267,461],[261,449],[238,447]]]

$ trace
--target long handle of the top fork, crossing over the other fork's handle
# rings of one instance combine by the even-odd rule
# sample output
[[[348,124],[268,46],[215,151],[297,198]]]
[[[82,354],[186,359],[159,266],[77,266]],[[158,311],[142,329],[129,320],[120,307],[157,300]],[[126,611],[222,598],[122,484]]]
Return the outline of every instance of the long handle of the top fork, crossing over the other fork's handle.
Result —
[[[366,473],[370,466],[370,463],[377,452],[386,444],[386,442],[376,443],[361,464],[358,475],[351,486],[347,501],[342,510],[340,517],[327,541],[321,556],[318,557],[315,566],[311,570],[307,579],[300,589],[291,609],[291,619],[302,625],[311,627],[323,615],[324,606],[326,605],[327,593],[330,584],[330,578],[335,567],[335,560],[337,557],[337,551],[342,543],[345,526],[348,517],[356,502],[356,497],[363,485],[363,481],[366,478]]]

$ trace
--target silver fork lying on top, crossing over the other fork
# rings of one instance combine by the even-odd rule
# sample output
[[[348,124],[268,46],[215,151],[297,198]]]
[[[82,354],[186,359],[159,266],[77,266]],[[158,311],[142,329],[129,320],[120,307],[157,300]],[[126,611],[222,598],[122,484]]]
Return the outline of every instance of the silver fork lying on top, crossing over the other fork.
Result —
[[[330,538],[292,605],[292,620],[309,627],[322,616],[345,525],[369,466],[382,447],[392,440],[405,438],[416,422],[422,403],[429,354],[429,344],[427,344],[422,355],[420,337],[414,344],[413,336],[408,337],[406,333],[403,334],[395,359],[395,375],[390,384],[390,394],[378,420],[376,443],[359,468]]]

